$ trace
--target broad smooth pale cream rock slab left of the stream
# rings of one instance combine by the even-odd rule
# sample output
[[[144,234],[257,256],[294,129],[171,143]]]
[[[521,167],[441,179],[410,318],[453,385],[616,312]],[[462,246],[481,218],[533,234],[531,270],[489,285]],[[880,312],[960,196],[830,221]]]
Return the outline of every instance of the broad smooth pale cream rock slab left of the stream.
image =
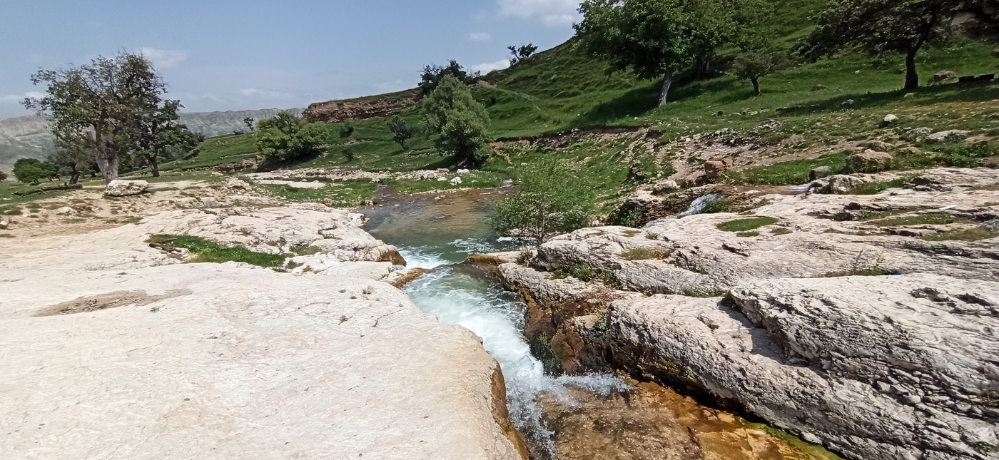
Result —
[[[359,222],[300,207],[225,219],[175,211],[0,241],[0,452],[526,458],[507,437],[500,368],[481,339],[421,311],[374,262],[280,273],[182,263],[145,242],[187,232],[260,250]],[[67,434],[81,427],[85,436]]]

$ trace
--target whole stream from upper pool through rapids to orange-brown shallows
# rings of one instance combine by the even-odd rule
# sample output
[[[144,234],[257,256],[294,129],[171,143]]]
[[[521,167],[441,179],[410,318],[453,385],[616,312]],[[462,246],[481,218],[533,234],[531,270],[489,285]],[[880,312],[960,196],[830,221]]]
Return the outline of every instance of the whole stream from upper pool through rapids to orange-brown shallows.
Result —
[[[521,244],[490,230],[493,204],[509,189],[442,195],[389,196],[359,210],[366,228],[396,245],[408,268],[433,268],[404,291],[441,321],[483,339],[506,384],[510,420],[535,460],[703,460],[837,458],[813,455],[774,436],[768,427],[702,406],[669,388],[610,374],[551,375],[523,335],[524,308],[475,264],[476,253],[516,250]],[[691,205],[696,214],[705,197]],[[807,451],[807,452],[806,452]],[[830,454],[831,455],[831,454]]]

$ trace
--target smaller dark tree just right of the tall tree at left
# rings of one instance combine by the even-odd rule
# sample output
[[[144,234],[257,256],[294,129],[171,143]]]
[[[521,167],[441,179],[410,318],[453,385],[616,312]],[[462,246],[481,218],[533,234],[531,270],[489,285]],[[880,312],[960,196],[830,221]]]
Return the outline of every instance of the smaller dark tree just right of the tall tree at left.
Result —
[[[167,100],[152,113],[143,114],[132,135],[132,152],[160,177],[160,158],[180,158],[198,147],[197,137],[180,122],[180,101]]]

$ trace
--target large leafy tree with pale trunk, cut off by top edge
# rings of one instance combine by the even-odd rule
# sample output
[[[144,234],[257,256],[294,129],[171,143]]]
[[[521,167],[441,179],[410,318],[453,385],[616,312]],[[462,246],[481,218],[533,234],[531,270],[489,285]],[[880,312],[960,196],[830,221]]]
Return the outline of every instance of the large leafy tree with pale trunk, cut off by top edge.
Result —
[[[662,78],[659,105],[669,101],[673,74],[708,61],[724,43],[748,45],[759,0],[586,0],[573,26],[579,46],[615,71]]]

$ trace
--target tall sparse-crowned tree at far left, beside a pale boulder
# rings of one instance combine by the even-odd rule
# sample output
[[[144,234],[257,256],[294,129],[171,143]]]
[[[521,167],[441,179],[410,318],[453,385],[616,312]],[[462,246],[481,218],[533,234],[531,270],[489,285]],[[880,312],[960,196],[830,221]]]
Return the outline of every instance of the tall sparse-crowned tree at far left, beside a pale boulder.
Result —
[[[138,122],[156,112],[166,91],[152,63],[131,53],[40,70],[31,81],[48,88],[45,96],[25,99],[24,106],[48,114],[54,134],[85,142],[107,182],[118,179]]]

